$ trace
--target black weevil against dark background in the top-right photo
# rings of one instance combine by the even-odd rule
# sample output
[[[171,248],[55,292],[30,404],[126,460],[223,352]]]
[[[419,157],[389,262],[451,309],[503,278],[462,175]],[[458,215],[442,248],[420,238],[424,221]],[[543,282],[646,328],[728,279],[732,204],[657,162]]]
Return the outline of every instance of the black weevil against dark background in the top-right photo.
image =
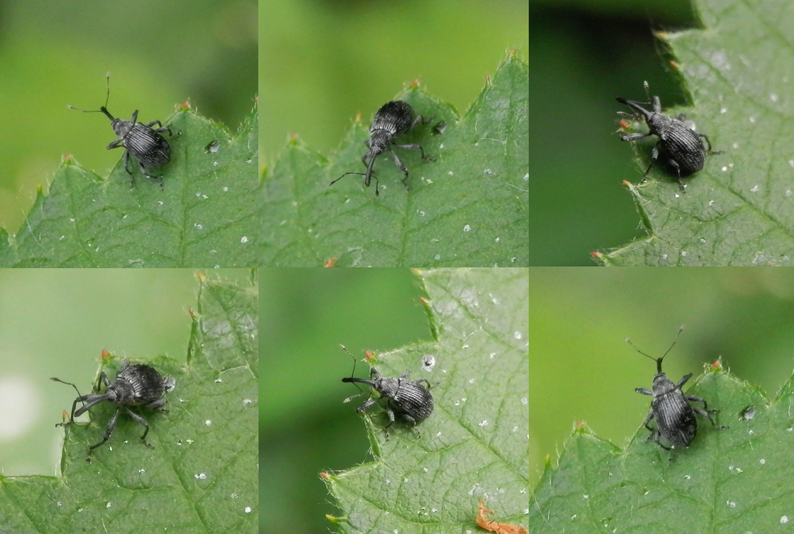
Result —
[[[721,150],[712,150],[711,141],[708,140],[705,133],[696,132],[692,129],[691,125],[686,122],[686,116],[682,113],[676,118],[669,117],[661,112],[661,102],[658,96],[650,98],[648,82],[644,82],[646,90],[646,98],[648,102],[634,102],[634,100],[626,100],[618,97],[616,100],[619,103],[626,104],[634,114],[624,113],[619,111],[618,114],[623,117],[629,117],[634,120],[644,118],[648,125],[648,133],[628,133],[620,137],[621,141],[637,141],[643,137],[656,135],[659,140],[656,146],[653,147],[651,153],[651,161],[646,168],[645,174],[642,175],[642,181],[646,180],[650,168],[653,163],[659,158],[660,149],[661,154],[667,158],[667,163],[678,176],[678,186],[682,192],[686,192],[684,182],[681,178],[689,176],[694,172],[700,171],[703,164],[706,162],[706,154],[721,154]],[[642,106],[653,106],[653,111],[646,110]],[[703,142],[700,138],[706,140],[708,144],[708,151],[703,147]]]

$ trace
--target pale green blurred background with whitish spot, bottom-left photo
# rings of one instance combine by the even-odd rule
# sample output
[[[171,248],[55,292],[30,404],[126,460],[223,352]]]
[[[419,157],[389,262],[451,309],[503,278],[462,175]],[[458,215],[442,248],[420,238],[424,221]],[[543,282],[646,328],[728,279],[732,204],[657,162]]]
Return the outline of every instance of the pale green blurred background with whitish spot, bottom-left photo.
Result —
[[[0,269],[0,472],[56,474],[76,395],[49,377],[89,393],[102,349],[185,361],[197,294],[194,269]]]

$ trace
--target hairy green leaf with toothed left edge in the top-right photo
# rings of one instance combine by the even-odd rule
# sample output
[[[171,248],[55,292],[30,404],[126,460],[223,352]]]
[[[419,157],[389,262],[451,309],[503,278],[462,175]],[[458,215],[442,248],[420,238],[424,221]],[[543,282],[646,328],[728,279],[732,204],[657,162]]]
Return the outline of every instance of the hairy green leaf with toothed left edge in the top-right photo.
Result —
[[[794,264],[794,19],[776,2],[698,0],[704,29],[660,33],[691,93],[685,111],[715,149],[681,193],[652,168],[630,186],[649,237],[609,253],[604,265]],[[638,82],[638,95],[642,88]],[[653,137],[655,139],[655,137]],[[650,146],[638,150],[644,170]]]

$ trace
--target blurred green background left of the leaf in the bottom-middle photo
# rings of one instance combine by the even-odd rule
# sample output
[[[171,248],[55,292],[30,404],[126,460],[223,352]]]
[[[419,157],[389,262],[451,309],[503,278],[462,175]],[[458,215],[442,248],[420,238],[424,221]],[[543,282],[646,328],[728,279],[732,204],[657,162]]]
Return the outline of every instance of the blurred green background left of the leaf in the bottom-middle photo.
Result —
[[[260,532],[329,532],[320,471],[372,460],[339,345],[360,360],[432,340],[420,296],[408,269],[260,269]]]

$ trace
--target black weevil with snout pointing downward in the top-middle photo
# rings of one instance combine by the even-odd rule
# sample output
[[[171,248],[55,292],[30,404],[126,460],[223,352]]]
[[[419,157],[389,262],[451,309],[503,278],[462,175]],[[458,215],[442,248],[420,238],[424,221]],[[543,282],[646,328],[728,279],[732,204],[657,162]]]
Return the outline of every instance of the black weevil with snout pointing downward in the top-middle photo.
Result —
[[[392,100],[380,106],[380,109],[376,111],[375,117],[372,118],[372,124],[369,126],[369,139],[364,141],[364,145],[367,145],[369,150],[361,157],[361,162],[367,168],[367,172],[345,172],[345,174],[328,184],[328,187],[336,184],[349,174],[357,174],[364,176],[364,185],[366,187],[369,187],[370,178],[375,178],[375,195],[377,196],[379,194],[378,177],[372,174],[372,165],[375,164],[376,157],[387,151],[391,152],[391,155],[395,158],[395,164],[403,171],[403,184],[407,187],[408,169],[405,168],[405,164],[403,164],[397,154],[391,150],[391,147],[397,146],[401,149],[419,150],[422,153],[423,160],[433,161],[430,157],[425,157],[425,151],[419,145],[398,145],[395,143],[397,137],[413,130],[414,126],[419,122],[423,122],[422,115],[417,115],[414,118],[414,108],[407,102]]]

